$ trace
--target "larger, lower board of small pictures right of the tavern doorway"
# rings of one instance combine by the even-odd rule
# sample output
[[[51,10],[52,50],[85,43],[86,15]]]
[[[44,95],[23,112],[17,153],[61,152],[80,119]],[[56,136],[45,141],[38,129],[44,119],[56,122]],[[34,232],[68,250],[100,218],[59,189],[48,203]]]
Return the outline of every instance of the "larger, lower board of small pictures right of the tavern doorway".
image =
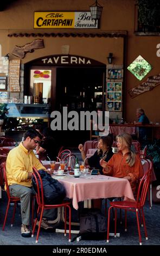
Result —
[[[121,82],[107,82],[106,85],[106,110],[121,111]]]

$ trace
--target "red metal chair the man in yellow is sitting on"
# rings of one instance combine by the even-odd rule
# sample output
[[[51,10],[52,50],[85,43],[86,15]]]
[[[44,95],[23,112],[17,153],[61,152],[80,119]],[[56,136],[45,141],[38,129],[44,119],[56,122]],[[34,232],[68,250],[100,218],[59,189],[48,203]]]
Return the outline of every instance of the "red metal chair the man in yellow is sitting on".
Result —
[[[14,203],[14,212],[13,212],[12,219],[11,219],[11,227],[12,227],[13,223],[14,223],[14,219],[15,219],[16,206],[17,206],[17,203],[20,201],[20,198],[19,197],[12,197],[10,195],[5,163],[4,163],[4,166],[3,166],[3,175],[4,175],[4,180],[5,180],[6,192],[7,192],[7,196],[8,196],[7,210],[5,212],[5,218],[4,218],[3,228],[2,228],[2,230],[4,231],[5,224],[6,224],[6,221],[7,221],[7,216],[8,216],[8,210],[9,210],[10,203],[11,202]],[[33,196],[32,200],[31,200],[31,215],[32,215],[31,223],[32,223],[32,227],[33,227],[33,224],[34,224],[34,198],[35,198],[35,196]]]

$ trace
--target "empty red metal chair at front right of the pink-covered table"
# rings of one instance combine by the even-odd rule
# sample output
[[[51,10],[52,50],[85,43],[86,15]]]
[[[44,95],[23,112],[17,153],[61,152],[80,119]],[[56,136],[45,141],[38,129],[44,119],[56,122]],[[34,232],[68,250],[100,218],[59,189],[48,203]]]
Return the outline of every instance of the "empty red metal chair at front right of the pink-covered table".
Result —
[[[148,192],[148,188],[149,188],[149,184],[150,184],[150,180],[151,180],[151,173],[152,173],[152,169],[151,169],[151,166],[150,166],[149,169],[148,169],[148,172],[140,180],[139,187],[138,187],[137,200],[135,202],[130,202],[130,201],[110,202],[111,206],[108,209],[107,242],[109,242],[110,210],[112,208],[115,209],[114,237],[116,237],[116,233],[117,233],[117,209],[124,209],[125,210],[125,231],[127,231],[127,211],[136,212],[138,234],[139,234],[139,245],[142,245],[142,237],[141,237],[141,234],[140,234],[140,225],[139,225],[139,218],[138,218],[138,212],[139,212],[140,216],[141,216],[141,212],[142,212],[144,231],[145,231],[145,239],[148,240],[148,234],[147,234],[147,231],[146,231],[143,206],[145,204],[146,194]]]

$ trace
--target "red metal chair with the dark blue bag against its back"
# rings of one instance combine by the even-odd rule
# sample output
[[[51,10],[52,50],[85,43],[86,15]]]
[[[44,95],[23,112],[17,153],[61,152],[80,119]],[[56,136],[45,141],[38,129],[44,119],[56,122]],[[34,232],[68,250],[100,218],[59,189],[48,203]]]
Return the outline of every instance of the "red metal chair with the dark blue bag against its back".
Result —
[[[53,209],[53,208],[62,208],[62,207],[65,208],[65,236],[66,236],[66,218],[67,218],[66,208],[69,209],[69,240],[68,241],[71,242],[71,206],[69,205],[70,202],[62,202],[61,204],[55,204],[55,205],[44,204],[43,183],[42,183],[41,176],[35,167],[33,167],[33,175],[34,175],[36,185],[37,185],[37,193],[36,193],[36,199],[37,199],[37,204],[38,204],[37,216],[40,214],[40,222],[39,222],[39,229],[37,231],[36,243],[39,240],[39,234],[40,234],[41,222],[42,222],[42,216],[43,216],[44,209]],[[41,187],[41,189],[40,189],[40,187]],[[31,235],[32,237],[34,236],[36,223],[37,223],[37,217],[35,219],[33,233]]]

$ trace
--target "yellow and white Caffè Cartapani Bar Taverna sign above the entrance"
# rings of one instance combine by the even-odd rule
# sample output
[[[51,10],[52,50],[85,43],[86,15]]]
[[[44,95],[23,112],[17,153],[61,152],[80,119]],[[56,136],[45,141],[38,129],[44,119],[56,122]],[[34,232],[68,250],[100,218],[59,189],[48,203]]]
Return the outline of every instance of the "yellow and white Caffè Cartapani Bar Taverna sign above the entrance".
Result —
[[[34,28],[98,28],[90,11],[35,11]]]

